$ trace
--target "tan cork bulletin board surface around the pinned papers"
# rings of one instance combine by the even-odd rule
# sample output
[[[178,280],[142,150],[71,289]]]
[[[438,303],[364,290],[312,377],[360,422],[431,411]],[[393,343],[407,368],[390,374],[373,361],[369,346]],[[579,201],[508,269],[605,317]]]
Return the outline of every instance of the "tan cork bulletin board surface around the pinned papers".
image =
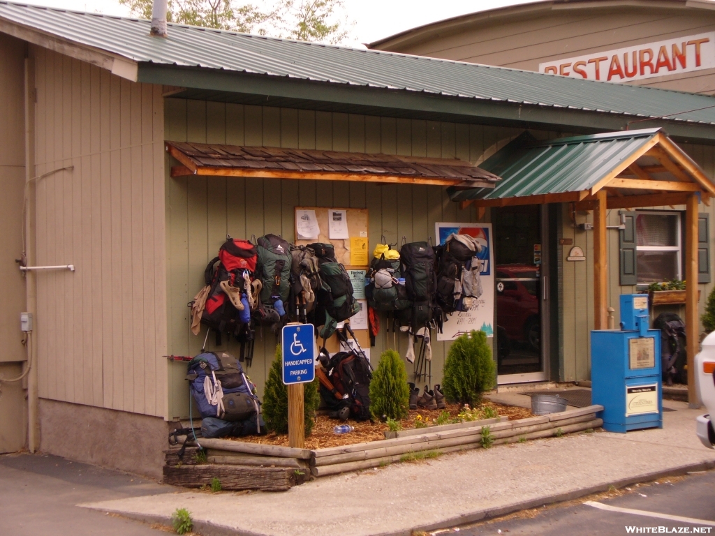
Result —
[[[370,252],[370,244],[368,242],[368,209],[341,209],[341,208],[326,208],[326,207],[295,207],[295,217],[299,211],[313,210],[315,211],[315,218],[317,219],[318,227],[320,227],[320,234],[317,238],[310,240],[299,240],[298,239],[298,226],[295,226],[295,244],[299,246],[307,246],[308,244],[313,244],[315,242],[322,242],[323,244],[332,244],[335,248],[335,258],[337,262],[340,262],[345,266],[345,268],[365,268],[370,264],[370,258],[372,253]],[[347,239],[330,239],[330,232],[328,226],[328,218],[330,211],[344,210],[347,215],[347,234],[349,238]],[[365,262],[360,262],[355,264],[350,262],[350,239],[363,239],[364,242],[360,244],[364,245],[367,252],[363,255]],[[353,257],[355,258],[355,257]]]

